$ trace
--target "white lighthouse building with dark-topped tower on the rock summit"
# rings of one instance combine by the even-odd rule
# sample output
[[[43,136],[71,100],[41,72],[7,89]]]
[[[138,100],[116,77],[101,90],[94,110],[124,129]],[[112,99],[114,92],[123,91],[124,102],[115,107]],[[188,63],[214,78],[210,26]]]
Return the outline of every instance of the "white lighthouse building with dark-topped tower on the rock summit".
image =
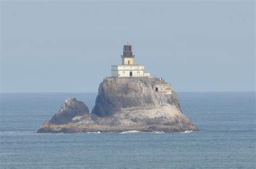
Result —
[[[112,77],[145,77],[150,73],[144,72],[144,65],[134,65],[134,55],[132,45],[126,43],[123,48],[122,65],[111,66]]]

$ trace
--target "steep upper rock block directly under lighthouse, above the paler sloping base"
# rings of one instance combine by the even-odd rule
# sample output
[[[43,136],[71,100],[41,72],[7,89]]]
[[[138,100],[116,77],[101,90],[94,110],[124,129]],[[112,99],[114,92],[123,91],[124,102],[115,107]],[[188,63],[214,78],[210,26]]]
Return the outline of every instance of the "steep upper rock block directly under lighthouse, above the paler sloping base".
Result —
[[[176,93],[157,93],[155,83],[165,84],[156,78],[105,78],[99,86],[99,94],[93,114],[100,117],[111,116],[127,108],[160,108],[174,105],[179,109]]]

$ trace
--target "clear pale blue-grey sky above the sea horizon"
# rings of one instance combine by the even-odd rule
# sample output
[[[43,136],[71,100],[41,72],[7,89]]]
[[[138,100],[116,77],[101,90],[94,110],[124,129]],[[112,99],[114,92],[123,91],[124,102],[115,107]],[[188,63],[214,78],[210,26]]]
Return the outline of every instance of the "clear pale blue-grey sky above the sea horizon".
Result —
[[[96,92],[134,61],[176,91],[255,91],[254,1],[1,1],[1,92]]]

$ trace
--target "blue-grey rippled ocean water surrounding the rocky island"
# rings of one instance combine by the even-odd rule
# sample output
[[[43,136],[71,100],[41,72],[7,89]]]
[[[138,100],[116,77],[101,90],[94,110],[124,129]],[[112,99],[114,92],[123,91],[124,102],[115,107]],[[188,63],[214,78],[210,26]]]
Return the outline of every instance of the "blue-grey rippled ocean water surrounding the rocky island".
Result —
[[[65,99],[97,93],[2,93],[0,168],[255,168],[255,92],[178,93],[201,130],[36,133]]]

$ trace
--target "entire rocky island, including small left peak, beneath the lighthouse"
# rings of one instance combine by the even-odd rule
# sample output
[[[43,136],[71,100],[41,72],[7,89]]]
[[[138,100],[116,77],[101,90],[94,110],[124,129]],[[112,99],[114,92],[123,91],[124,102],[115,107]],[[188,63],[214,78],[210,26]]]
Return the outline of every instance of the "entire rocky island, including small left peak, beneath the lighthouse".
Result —
[[[198,131],[181,112],[176,93],[161,88],[166,85],[157,78],[105,78],[91,114],[83,102],[68,99],[38,132]]]

